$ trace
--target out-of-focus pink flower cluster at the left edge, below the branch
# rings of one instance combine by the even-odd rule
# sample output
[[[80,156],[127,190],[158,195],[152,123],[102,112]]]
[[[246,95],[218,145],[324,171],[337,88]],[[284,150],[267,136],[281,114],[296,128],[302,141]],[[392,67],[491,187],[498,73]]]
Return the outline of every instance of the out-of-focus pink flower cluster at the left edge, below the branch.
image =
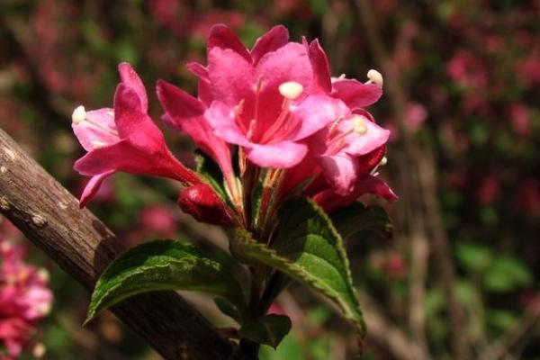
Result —
[[[45,270],[24,262],[21,244],[0,235],[0,359],[16,358],[30,345],[37,322],[50,310],[48,282]]]

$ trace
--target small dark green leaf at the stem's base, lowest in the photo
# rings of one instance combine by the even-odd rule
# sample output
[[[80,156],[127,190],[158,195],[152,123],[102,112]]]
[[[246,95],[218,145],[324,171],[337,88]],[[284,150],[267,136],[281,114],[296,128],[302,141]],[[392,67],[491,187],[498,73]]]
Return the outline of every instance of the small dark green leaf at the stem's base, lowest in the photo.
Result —
[[[238,335],[275,348],[290,330],[291,320],[288,316],[269,314],[257,321],[247,322],[238,330]]]

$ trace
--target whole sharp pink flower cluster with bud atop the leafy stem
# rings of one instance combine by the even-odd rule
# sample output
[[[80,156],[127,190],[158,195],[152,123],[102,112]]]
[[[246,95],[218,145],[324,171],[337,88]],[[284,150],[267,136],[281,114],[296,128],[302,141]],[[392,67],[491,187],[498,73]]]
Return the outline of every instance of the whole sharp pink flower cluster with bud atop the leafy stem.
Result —
[[[189,135],[220,167],[222,188],[221,179],[209,181],[175,159],[148,117],[139,76],[122,63],[113,108],[73,112],[73,129],[88,151],[75,168],[92,176],[81,206],[116,171],[178,180],[184,211],[247,229],[266,224],[293,195],[309,196],[326,211],[364,193],[396,200],[376,173],[390,131],[365,111],[383,93],[381,74],[370,70],[366,83],[332,77],[319,41],[289,41],[283,26],[247,49],[228,27],[215,25],[207,61],[187,64],[199,79],[197,97],[164,80],[157,97],[166,125]]]

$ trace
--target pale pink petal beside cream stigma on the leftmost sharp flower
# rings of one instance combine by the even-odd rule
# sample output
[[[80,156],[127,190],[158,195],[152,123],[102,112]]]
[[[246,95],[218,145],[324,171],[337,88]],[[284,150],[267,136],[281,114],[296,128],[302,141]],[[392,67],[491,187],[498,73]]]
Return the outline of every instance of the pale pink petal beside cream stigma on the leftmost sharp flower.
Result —
[[[108,146],[120,140],[111,108],[86,112],[86,119],[88,121],[71,123],[76,138],[86,151],[93,150],[97,144]]]

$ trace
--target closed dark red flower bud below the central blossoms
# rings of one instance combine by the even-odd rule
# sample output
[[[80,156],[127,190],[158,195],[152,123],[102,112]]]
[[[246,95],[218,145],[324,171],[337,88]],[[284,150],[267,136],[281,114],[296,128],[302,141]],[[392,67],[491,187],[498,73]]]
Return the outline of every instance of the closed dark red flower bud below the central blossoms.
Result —
[[[208,184],[197,184],[184,188],[178,197],[178,204],[195,220],[215,225],[232,223],[225,203]]]

